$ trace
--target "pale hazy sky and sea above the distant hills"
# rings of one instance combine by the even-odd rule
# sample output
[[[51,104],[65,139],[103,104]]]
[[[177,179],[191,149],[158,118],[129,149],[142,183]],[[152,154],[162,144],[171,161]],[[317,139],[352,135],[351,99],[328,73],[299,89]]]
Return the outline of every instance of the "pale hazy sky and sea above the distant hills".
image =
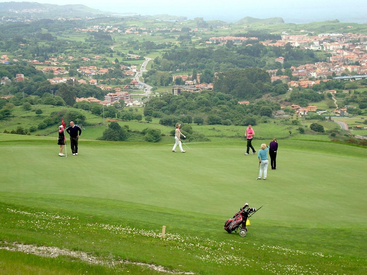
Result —
[[[0,2],[8,1],[0,0]],[[246,16],[282,17],[286,23],[334,19],[341,22],[367,22],[367,0],[39,0],[27,2],[57,5],[83,4],[102,11],[134,12],[142,15],[182,15],[189,19],[204,17],[205,20],[221,19],[226,22],[234,22]]]

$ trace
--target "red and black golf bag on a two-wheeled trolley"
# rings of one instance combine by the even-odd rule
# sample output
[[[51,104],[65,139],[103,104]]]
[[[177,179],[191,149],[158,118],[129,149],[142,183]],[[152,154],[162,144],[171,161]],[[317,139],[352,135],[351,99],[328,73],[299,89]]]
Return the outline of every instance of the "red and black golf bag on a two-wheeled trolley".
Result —
[[[248,218],[252,216],[252,214],[254,214],[256,211],[257,210],[255,209],[255,207],[250,208],[248,207],[248,203],[245,203],[245,205],[240,209],[239,212],[235,214],[235,216],[226,220],[224,224],[224,230],[227,231],[228,233],[232,233],[233,231],[237,232],[237,230],[240,229],[239,232],[240,236],[241,237],[246,236],[247,235],[246,225],[250,225],[250,221],[248,220]],[[250,213],[252,214],[250,215]]]

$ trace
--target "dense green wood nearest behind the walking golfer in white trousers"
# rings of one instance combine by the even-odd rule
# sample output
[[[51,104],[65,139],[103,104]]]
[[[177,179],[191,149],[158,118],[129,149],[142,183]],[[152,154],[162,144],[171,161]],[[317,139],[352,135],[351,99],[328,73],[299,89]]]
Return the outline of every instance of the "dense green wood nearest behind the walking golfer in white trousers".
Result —
[[[271,116],[280,104],[259,100],[255,104],[241,105],[232,95],[214,91],[166,94],[152,98],[144,108],[144,115],[160,118],[159,123],[174,126],[183,123],[255,125],[262,117]]]

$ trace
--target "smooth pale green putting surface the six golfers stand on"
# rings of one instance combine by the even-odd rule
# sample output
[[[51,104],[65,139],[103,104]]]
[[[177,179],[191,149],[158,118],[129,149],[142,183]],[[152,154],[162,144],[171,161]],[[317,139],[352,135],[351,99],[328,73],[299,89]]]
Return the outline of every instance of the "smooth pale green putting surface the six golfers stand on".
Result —
[[[279,141],[277,169],[255,180],[258,159],[243,141],[172,144],[79,143],[59,157],[50,138],[6,142],[2,194],[80,196],[231,216],[241,205],[264,205],[256,219],[309,227],[366,227],[366,149],[343,144]],[[26,137],[24,137],[26,139]],[[30,143],[28,143],[30,142]],[[258,149],[261,141],[254,141]],[[343,221],[343,222],[342,222]]]

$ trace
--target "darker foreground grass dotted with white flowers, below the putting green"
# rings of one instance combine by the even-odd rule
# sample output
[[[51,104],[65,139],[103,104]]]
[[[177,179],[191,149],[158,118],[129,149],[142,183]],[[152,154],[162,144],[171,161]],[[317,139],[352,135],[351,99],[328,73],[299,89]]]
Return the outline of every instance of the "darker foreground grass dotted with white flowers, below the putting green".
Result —
[[[331,234],[327,228],[305,228],[253,218],[248,236],[240,238],[222,231],[223,217],[212,214],[92,198],[29,199],[17,195],[10,198],[14,199],[13,205],[0,204],[4,223],[0,232],[7,242],[15,240],[84,251],[106,263],[128,259],[198,274],[226,274],[229,267],[252,274],[269,274],[269,271],[275,274],[331,274],[335,271],[363,274],[366,271],[361,256],[365,248],[355,245],[366,241],[366,230],[342,228]],[[18,203],[37,205],[38,211]],[[75,203],[77,208],[73,207]],[[40,212],[46,205],[47,212]],[[73,208],[73,213],[66,208]],[[146,226],[140,222],[142,217]],[[160,238],[162,222],[167,225],[164,239]],[[337,243],[335,238],[339,239]],[[9,263],[8,258],[3,260],[6,267],[14,259],[11,257]],[[62,271],[70,265],[71,270],[75,265],[78,267],[70,260],[64,257],[46,260],[46,263],[51,261],[50,267],[43,258],[35,258],[32,266]],[[20,266],[23,265],[28,268],[29,264],[22,261]],[[78,268],[93,272],[86,264],[79,264]],[[102,274],[105,269],[109,271],[108,268],[95,269]],[[127,271],[129,267],[116,264],[116,272],[121,269]],[[133,274],[142,273],[136,269],[137,273]]]

